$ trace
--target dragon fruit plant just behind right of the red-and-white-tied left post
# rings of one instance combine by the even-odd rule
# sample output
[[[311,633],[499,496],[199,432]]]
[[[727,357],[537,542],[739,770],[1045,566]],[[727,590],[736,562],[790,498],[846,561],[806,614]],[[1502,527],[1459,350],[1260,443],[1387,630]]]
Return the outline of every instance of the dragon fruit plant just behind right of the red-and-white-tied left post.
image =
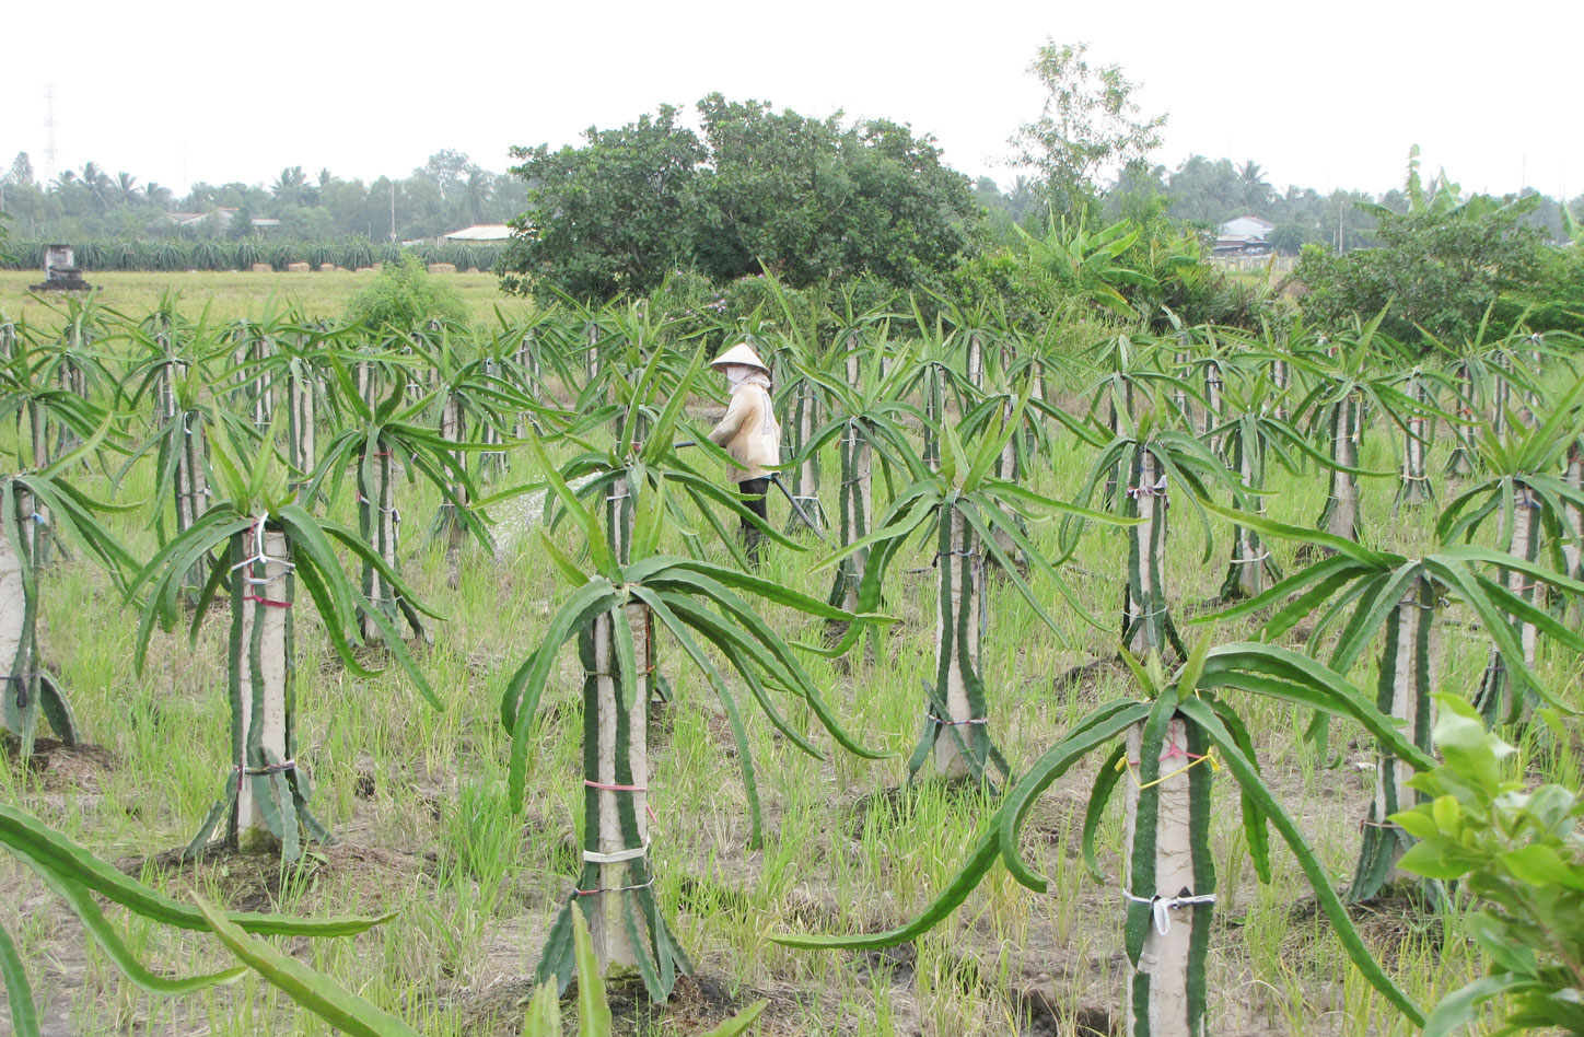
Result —
[[[432,394],[410,401],[407,374],[401,366],[388,369],[390,389],[374,404],[364,399],[364,386],[358,385],[341,358],[329,358],[328,374],[326,388],[339,415],[341,431],[325,446],[318,470],[303,491],[304,500],[317,499],[326,484],[337,488],[348,467],[355,472],[358,530],[371,548],[369,553],[360,553],[363,597],[374,605],[363,613],[363,640],[388,644],[394,624],[401,621],[406,621],[413,636],[426,638],[421,617],[425,610],[407,600],[399,581],[390,579],[390,575],[401,572],[398,472],[404,472],[409,483],[418,475],[432,483],[451,505],[463,529],[488,548],[489,530],[466,500],[477,492],[472,475],[458,459],[458,454],[480,446],[450,442],[423,424]]]

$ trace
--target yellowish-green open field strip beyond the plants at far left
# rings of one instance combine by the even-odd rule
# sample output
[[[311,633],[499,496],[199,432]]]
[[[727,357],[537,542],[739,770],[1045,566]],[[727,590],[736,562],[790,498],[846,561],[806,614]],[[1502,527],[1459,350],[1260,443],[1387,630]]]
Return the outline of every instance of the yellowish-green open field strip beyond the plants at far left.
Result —
[[[453,285],[467,315],[474,323],[493,321],[499,306],[508,317],[526,313],[532,302],[520,296],[504,296],[494,274],[440,274]],[[0,315],[25,317],[38,326],[54,326],[57,318],[51,307],[59,306],[52,296],[35,296],[27,290],[41,280],[41,274],[0,271]],[[314,317],[339,317],[348,299],[374,280],[374,274],[333,271],[326,274],[242,274],[184,272],[184,274],[127,274],[92,272],[89,283],[98,288],[100,301],[122,313],[146,313],[166,293],[181,296],[182,309],[198,312],[204,306],[215,320],[238,317],[261,317],[298,306]]]

